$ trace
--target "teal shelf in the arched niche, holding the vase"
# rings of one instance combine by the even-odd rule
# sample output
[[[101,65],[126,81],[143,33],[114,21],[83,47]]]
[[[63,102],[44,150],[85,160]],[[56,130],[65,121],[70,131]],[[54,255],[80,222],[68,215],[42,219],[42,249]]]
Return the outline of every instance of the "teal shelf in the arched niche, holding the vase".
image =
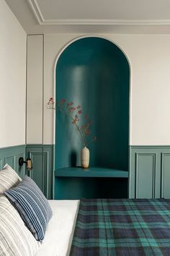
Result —
[[[58,168],[55,171],[55,177],[115,177],[128,178],[128,171],[116,170],[112,168],[81,168],[81,167],[66,167]]]

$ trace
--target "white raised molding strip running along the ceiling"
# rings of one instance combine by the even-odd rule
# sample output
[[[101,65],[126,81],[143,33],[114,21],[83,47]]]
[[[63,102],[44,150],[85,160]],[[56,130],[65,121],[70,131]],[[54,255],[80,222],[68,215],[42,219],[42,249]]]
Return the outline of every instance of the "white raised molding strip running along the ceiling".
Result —
[[[170,25],[170,20],[84,20],[63,19],[45,20],[37,0],[28,0],[39,25]]]

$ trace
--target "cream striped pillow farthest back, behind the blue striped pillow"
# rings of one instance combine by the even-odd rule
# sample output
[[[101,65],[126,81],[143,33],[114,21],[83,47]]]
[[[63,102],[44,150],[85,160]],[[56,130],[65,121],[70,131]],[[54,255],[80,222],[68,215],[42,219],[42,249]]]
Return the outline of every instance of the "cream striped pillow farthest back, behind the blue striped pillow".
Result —
[[[22,179],[18,176],[17,172],[14,171],[11,166],[6,164],[0,171],[0,195],[6,190],[16,186],[21,180]]]

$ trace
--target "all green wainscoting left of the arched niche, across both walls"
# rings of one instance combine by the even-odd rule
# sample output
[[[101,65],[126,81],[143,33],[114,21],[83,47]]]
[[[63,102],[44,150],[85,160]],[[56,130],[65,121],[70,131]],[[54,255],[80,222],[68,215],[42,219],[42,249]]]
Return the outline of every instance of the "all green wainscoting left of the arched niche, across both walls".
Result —
[[[8,163],[19,176],[29,175],[40,187],[48,199],[53,199],[54,181],[54,145],[17,145],[14,147],[0,148],[0,170]],[[19,166],[19,157],[32,159],[32,171],[27,171],[25,165]]]

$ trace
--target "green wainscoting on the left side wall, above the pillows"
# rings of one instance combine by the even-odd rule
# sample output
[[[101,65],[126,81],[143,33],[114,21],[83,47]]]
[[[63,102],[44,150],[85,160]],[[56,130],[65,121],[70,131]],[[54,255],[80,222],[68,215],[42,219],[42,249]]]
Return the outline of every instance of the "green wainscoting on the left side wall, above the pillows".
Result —
[[[19,166],[18,160],[20,157],[25,159],[25,145],[0,148],[0,170],[8,163],[22,178],[25,175],[25,166]]]

